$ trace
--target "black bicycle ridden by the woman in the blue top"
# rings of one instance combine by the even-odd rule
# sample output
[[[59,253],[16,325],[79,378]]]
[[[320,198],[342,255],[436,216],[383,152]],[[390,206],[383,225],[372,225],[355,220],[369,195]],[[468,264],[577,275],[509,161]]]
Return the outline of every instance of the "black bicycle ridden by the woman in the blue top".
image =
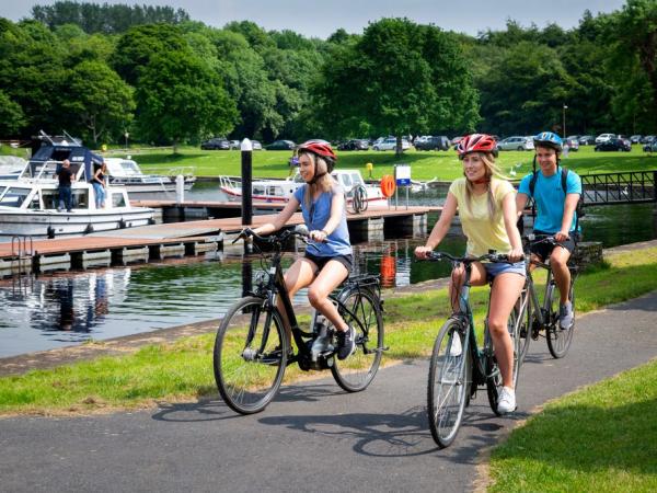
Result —
[[[385,351],[379,276],[349,277],[331,295],[342,318],[356,331],[356,352],[338,360],[335,329],[314,310],[311,330],[301,329],[285,287],[280,265],[283,249],[293,237],[308,242],[308,229],[297,227],[266,238],[245,230],[238,239],[244,237],[252,237],[254,246],[266,245],[273,253],[269,259],[263,253],[265,262],[257,276],[257,287],[230,308],[217,331],[215,380],[226,403],[241,414],[262,411],[276,395],[286,366],[291,363],[304,371],[331,369],[337,385],[348,392],[365,390],[374,378]],[[296,354],[276,306],[278,297],[291,326]],[[328,341],[321,351],[313,347],[319,336],[326,336]]]

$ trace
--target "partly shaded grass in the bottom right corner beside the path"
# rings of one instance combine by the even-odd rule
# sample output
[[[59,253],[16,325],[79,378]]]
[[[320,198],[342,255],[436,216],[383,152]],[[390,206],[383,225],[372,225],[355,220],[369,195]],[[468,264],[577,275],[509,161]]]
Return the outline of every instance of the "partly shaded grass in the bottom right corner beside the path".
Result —
[[[491,461],[493,492],[657,491],[657,359],[561,398]]]

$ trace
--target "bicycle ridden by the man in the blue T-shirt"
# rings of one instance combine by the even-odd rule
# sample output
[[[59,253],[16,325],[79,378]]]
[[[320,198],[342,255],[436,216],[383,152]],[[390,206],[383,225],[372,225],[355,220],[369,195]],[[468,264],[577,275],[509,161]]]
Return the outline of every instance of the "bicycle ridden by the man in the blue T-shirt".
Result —
[[[520,358],[523,359],[527,351],[529,349],[529,342],[531,339],[538,340],[540,336],[544,336],[548,341],[548,348],[550,354],[555,358],[563,358],[573,341],[573,333],[575,330],[575,320],[569,328],[561,329],[560,321],[560,297],[557,295],[556,283],[552,275],[552,268],[550,267],[550,261],[540,262],[531,260],[529,249],[533,244],[549,243],[556,245],[557,241],[553,236],[535,236],[528,234],[522,237],[522,243],[526,251],[526,264],[527,264],[527,279],[525,287],[516,307],[514,308],[514,314],[521,321],[520,326]],[[544,268],[546,271],[545,278],[545,291],[543,296],[543,303],[541,305],[537,287],[533,282],[530,265]],[[568,264],[570,271],[570,287],[568,297],[573,303],[573,311],[575,311],[575,279],[578,274],[576,265]]]

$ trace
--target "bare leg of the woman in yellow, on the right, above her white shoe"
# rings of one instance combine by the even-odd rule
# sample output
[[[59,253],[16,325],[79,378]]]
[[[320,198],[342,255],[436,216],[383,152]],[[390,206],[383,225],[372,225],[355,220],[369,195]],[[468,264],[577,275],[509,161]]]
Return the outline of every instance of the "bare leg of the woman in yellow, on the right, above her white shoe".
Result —
[[[514,389],[514,344],[507,324],[523,285],[523,276],[516,273],[506,273],[497,275],[491,288],[488,330],[493,337],[495,357],[502,372],[503,385],[509,389]]]

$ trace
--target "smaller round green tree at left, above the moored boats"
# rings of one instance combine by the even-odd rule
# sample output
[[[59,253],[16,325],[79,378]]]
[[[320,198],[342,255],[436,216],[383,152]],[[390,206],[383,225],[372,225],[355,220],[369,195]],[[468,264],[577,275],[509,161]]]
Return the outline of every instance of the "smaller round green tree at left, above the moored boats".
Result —
[[[101,137],[120,137],[130,121],[135,102],[132,88],[101,61],[82,61],[76,66],[68,79],[71,96],[64,108],[68,119],[79,122],[80,128],[94,144]]]

